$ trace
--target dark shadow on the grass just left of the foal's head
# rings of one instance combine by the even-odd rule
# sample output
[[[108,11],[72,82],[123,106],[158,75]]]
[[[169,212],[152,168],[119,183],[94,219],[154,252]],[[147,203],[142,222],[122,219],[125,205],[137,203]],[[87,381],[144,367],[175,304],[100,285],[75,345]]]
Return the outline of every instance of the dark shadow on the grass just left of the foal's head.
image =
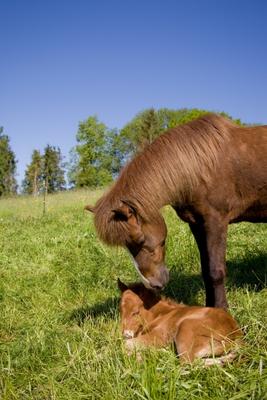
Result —
[[[82,325],[90,318],[115,318],[118,309],[118,298],[109,297],[103,303],[96,303],[92,306],[80,307],[71,313],[70,320]]]

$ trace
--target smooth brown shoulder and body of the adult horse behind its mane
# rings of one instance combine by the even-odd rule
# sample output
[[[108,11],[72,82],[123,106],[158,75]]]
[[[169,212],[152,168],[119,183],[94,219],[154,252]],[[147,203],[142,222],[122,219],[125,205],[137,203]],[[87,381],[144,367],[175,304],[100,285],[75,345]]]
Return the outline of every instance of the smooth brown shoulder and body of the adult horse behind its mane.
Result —
[[[220,215],[232,222],[267,221],[267,126],[230,127],[217,168],[203,179],[193,201],[175,208],[186,222]]]

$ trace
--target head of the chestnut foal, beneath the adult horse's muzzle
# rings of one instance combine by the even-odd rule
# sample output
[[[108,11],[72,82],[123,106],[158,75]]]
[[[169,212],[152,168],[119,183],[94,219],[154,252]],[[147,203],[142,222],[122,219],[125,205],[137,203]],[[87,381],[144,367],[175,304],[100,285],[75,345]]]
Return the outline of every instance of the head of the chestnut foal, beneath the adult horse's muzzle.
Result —
[[[142,283],[126,286],[118,279],[122,293],[120,316],[123,336],[133,338],[144,328],[144,313],[160,300],[160,296],[144,287]]]

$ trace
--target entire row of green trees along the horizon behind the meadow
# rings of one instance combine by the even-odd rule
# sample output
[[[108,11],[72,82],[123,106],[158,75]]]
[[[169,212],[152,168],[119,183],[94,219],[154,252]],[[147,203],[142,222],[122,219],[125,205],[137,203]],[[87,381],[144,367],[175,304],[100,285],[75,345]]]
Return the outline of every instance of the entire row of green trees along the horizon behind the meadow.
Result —
[[[111,129],[97,116],[79,123],[76,145],[64,162],[59,147],[34,149],[27,165],[21,191],[38,196],[66,188],[96,188],[109,184],[122,166],[165,130],[192,121],[208,111],[201,109],[146,109],[121,130]],[[231,118],[226,113],[221,115]],[[241,124],[241,121],[235,120]],[[16,157],[9,137],[0,127],[0,197],[16,194]]]

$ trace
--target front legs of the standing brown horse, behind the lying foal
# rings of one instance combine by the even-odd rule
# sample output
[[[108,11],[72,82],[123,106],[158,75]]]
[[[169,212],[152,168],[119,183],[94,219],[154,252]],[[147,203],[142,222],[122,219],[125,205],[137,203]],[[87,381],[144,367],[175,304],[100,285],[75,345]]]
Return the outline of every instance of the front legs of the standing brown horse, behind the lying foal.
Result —
[[[210,219],[203,223],[190,224],[198,245],[202,276],[206,289],[206,306],[227,308],[224,287],[226,275],[227,224]]]

